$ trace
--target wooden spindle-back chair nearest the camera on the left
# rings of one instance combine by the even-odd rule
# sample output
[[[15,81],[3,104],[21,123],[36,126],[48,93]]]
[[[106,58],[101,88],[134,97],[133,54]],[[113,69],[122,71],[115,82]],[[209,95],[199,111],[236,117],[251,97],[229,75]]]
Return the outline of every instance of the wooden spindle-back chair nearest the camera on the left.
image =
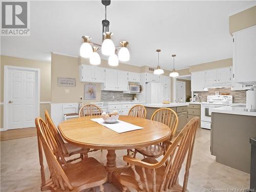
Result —
[[[83,191],[97,186],[99,186],[99,191],[104,191],[103,183],[106,182],[106,170],[101,163],[90,157],[76,163],[61,165],[58,160],[61,153],[56,147],[57,143],[51,129],[40,117],[35,119],[35,124],[41,166],[41,191]],[[48,180],[45,176],[42,148],[50,172]]]

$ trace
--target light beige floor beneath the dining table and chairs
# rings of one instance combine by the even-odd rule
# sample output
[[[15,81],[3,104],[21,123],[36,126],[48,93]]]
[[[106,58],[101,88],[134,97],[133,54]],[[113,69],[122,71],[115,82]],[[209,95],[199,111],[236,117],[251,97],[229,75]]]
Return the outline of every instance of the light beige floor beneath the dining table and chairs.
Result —
[[[40,191],[40,166],[36,137],[1,141],[1,191]],[[206,191],[211,188],[248,188],[249,174],[217,163],[210,155],[210,131],[198,129],[191,167],[188,190]],[[117,165],[126,165],[122,156],[126,150],[117,151]],[[106,151],[90,153],[98,161],[106,163]],[[139,154],[137,157],[140,157]],[[142,157],[141,157],[142,158]],[[45,161],[45,160],[44,160]],[[46,162],[46,161],[45,161]],[[48,174],[47,164],[45,164]],[[183,180],[181,170],[180,181]],[[104,184],[105,192],[119,191],[112,184]],[[131,189],[131,191],[134,191]],[[230,190],[232,191],[232,190]],[[235,191],[235,190],[234,190]]]

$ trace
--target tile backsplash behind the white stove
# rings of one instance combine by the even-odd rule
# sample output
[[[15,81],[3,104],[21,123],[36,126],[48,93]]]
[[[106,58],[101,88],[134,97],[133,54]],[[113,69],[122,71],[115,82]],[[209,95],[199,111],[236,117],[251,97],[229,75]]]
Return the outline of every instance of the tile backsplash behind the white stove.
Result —
[[[207,95],[215,95],[215,92],[219,91],[219,94],[221,93],[229,93],[229,95],[233,96],[233,102],[234,103],[246,103],[246,91],[232,91],[231,88],[215,88],[215,89],[209,89],[209,91],[206,92],[193,92],[193,93],[199,93],[200,94],[200,102],[207,101]]]

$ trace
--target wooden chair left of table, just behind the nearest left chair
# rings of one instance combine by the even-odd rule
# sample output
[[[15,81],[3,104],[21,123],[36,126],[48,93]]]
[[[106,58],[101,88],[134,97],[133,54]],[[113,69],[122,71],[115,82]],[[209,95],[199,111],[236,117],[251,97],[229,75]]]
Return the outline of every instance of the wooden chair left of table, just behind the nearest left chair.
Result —
[[[61,135],[59,134],[58,130],[56,129],[56,126],[54,125],[51,116],[49,115],[48,111],[45,110],[45,117],[46,117],[46,124],[48,125],[49,129],[51,130],[54,139],[57,143],[57,147],[59,148],[59,151],[62,152],[63,157],[70,157],[75,154],[80,154],[80,158],[87,158],[89,148],[82,148],[79,146],[76,146],[71,143],[64,142]],[[77,160],[79,158],[70,159],[68,162],[72,162],[74,160]]]

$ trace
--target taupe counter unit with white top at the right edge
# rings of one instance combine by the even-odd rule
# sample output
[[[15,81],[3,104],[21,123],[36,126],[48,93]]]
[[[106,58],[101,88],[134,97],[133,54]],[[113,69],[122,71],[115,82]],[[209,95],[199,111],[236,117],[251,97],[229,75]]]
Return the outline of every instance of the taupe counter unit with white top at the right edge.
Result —
[[[256,112],[238,106],[211,112],[211,155],[216,161],[250,173],[250,138],[256,137]]]

